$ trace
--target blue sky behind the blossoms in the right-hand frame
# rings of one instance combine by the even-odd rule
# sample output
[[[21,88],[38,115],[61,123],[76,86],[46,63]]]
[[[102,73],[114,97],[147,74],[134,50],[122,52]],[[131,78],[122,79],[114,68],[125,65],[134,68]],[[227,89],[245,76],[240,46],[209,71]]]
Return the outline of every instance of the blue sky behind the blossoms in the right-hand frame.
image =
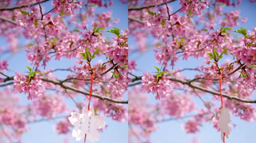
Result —
[[[170,3],[170,6],[173,7],[173,11],[176,11],[180,8],[179,1],[175,1]],[[240,9],[241,17],[248,18],[246,23],[241,23],[239,26],[234,27],[233,29],[240,29],[240,27],[246,29],[253,29],[256,26],[256,3],[249,3],[249,0],[243,0],[243,3],[238,7],[228,7],[225,12],[229,12],[231,10]],[[233,34],[237,35],[237,34]],[[150,45],[154,41],[154,39],[149,38],[148,42],[145,45]],[[129,36],[129,47],[136,47],[136,43],[134,38]],[[151,73],[155,71],[153,66],[160,65],[155,60],[155,55],[152,50],[147,51],[146,53],[137,53],[137,54],[129,54],[129,60],[136,59],[137,71],[136,75],[143,75],[143,71],[148,71]],[[196,66],[201,65],[201,61],[204,60],[200,58],[199,60],[195,58],[189,58],[188,60],[179,60],[174,69],[180,68],[195,68]],[[222,59],[220,62],[223,62],[225,59]],[[232,59],[231,59],[232,60]],[[186,75],[189,79],[192,79],[195,75],[194,71],[183,71],[182,75]],[[149,94],[150,100],[149,102],[159,102],[155,100],[155,95]],[[211,100],[212,95],[207,94],[203,97],[205,101]],[[253,96],[253,99],[256,99],[256,96]],[[198,108],[205,108],[202,102],[198,98],[193,98],[196,102],[196,106]],[[225,143],[255,143],[255,131],[256,131],[256,122],[246,122],[244,120],[240,120],[240,117],[231,116],[232,123],[237,124],[235,128],[232,128],[230,139],[225,139]],[[165,123],[158,124],[160,129],[154,132],[151,136],[152,143],[192,143],[193,138],[198,139],[198,143],[222,143],[220,140],[220,132],[217,132],[215,128],[213,128],[212,123],[204,123],[202,127],[199,127],[200,132],[196,134],[187,134],[181,127],[181,124],[185,123],[184,120],[178,121],[169,121]]]

